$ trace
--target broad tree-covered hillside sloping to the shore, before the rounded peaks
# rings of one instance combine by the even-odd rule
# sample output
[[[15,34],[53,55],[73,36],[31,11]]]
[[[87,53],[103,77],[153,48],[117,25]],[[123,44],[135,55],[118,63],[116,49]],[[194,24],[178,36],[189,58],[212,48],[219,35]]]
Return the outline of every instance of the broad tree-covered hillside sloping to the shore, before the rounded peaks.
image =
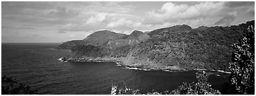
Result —
[[[147,32],[150,37],[144,36],[144,41],[134,45],[116,45],[115,49],[112,49],[79,43],[72,51],[87,57],[122,57],[126,65],[147,68],[228,70],[233,51],[231,45],[243,37],[243,29],[247,25],[254,25],[254,21],[231,27],[197,29],[191,29],[188,25],[176,25]],[[118,43],[125,39],[129,41],[131,36],[145,35],[142,32],[136,33],[109,42]]]

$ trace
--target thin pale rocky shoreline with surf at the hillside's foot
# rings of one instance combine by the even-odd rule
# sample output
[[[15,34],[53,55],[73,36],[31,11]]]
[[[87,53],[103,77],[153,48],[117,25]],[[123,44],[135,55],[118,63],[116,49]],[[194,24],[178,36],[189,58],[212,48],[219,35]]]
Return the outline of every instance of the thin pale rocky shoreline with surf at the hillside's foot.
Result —
[[[67,62],[67,61],[74,61],[74,62],[113,62],[116,63],[117,66],[121,66],[123,67],[123,69],[135,69],[135,70],[143,70],[143,71],[216,71],[216,70],[207,70],[207,69],[179,69],[179,68],[170,68],[169,66],[167,67],[157,67],[157,68],[151,68],[151,67],[144,67],[141,65],[129,65],[129,64],[125,64],[121,61],[121,59],[119,58],[91,58],[91,57],[61,57],[60,59],[58,59],[58,61],[63,61],[63,62]],[[219,73],[231,73],[229,71],[221,71],[221,70],[217,70],[216,72]]]

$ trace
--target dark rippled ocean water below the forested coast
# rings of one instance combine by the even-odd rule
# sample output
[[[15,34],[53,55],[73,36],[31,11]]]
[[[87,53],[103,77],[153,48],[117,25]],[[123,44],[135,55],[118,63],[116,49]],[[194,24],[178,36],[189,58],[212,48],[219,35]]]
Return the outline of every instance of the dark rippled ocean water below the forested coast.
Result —
[[[42,94],[103,94],[111,86],[139,89],[142,93],[171,91],[183,82],[197,81],[196,71],[143,71],[127,69],[111,62],[61,62],[71,55],[56,49],[60,43],[2,43],[1,75],[38,89]],[[228,74],[209,72],[209,83],[221,89]]]

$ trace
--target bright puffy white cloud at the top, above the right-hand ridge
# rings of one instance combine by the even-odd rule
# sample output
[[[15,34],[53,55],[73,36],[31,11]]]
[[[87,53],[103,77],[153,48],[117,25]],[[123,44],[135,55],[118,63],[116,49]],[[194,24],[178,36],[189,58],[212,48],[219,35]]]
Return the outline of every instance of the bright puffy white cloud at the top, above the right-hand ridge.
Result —
[[[224,2],[201,2],[196,5],[177,5],[175,3],[165,3],[161,9],[147,13],[144,23],[164,23],[177,22],[185,19],[197,19],[201,17],[213,17],[219,15],[223,9]]]

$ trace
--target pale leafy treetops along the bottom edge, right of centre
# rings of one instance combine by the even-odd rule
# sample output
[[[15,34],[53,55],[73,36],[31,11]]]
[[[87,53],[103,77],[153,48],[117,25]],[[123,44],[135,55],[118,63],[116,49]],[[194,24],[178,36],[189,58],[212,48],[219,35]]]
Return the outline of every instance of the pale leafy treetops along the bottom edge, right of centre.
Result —
[[[145,93],[147,95],[220,95],[221,92],[219,90],[215,90],[211,88],[211,84],[208,83],[208,76],[205,71],[203,73],[196,73],[197,83],[183,83],[183,85],[179,86],[178,89],[173,91],[165,91],[164,93],[159,93],[157,91],[153,91],[151,93]],[[111,95],[124,95],[124,94],[132,94],[132,95],[141,95],[139,89],[129,89],[125,85],[125,89],[119,88],[118,86],[113,86],[111,88]]]

